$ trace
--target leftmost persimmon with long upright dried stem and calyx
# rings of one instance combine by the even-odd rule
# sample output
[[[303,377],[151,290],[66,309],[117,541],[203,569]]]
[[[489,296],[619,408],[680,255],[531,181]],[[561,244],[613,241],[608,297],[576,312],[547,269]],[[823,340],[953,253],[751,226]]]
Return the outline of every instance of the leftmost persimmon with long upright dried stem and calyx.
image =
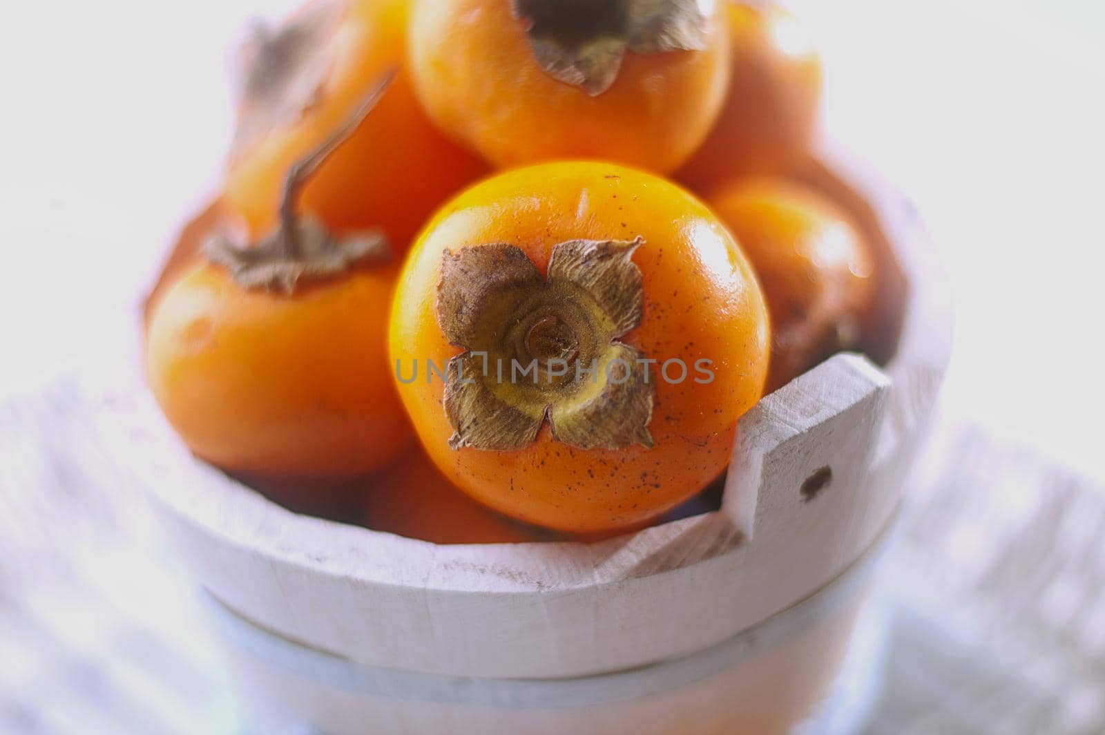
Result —
[[[343,477],[383,466],[413,439],[386,358],[398,271],[386,239],[336,239],[295,207],[386,86],[291,167],[272,234],[246,246],[212,238],[208,262],[152,304],[146,363],[154,396],[191,450],[224,470]]]

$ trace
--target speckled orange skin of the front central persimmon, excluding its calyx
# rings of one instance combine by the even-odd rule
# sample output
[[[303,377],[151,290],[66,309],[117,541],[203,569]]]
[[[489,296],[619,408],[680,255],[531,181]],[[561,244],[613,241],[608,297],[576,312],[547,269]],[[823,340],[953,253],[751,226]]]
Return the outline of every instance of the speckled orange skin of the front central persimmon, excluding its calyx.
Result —
[[[516,518],[569,533],[625,528],[702,490],[726,466],[737,419],[760,397],[768,367],[766,307],[729,232],[677,186],[598,162],[557,162],[485,180],[442,208],[408,255],[390,327],[392,368],[444,365],[460,350],[438,324],[442,254],[511,243],[545,272],[552,246],[571,239],[644,238],[633,255],[643,275],[644,316],[621,337],[648,357],[678,358],[681,384],[654,380],[654,447],[575,449],[541,429],[518,451],[452,450],[436,377],[398,384],[422,445],[453,483]],[[694,382],[698,359],[715,379]],[[677,378],[677,371],[672,370]]]

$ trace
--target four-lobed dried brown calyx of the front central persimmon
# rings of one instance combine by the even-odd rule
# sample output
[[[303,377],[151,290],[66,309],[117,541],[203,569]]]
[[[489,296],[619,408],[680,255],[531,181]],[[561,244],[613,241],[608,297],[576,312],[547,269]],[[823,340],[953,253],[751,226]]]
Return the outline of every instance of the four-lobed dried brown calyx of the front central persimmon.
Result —
[[[511,244],[445,251],[438,323],[464,348],[445,376],[451,448],[523,449],[546,421],[578,449],[652,447],[648,363],[618,340],[641,323],[643,242],[561,242],[547,277]]]

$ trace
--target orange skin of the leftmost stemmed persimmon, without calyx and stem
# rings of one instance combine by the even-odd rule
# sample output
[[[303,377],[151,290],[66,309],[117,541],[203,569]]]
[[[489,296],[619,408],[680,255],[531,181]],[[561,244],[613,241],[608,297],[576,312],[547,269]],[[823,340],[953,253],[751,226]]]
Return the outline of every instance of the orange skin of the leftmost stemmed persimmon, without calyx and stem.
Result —
[[[293,296],[243,291],[201,264],[156,303],[149,385],[200,458],[270,479],[377,470],[411,443],[386,359],[396,267],[352,271]]]

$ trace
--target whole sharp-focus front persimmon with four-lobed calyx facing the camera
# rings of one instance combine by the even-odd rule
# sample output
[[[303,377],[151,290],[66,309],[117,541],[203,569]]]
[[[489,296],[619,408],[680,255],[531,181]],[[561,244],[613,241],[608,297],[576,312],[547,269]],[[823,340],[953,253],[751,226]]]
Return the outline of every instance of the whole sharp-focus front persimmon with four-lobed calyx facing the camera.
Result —
[[[697,199],[612,164],[502,174],[443,207],[389,330],[430,458],[476,500],[569,533],[627,528],[698,492],[760,397],[768,321]]]

